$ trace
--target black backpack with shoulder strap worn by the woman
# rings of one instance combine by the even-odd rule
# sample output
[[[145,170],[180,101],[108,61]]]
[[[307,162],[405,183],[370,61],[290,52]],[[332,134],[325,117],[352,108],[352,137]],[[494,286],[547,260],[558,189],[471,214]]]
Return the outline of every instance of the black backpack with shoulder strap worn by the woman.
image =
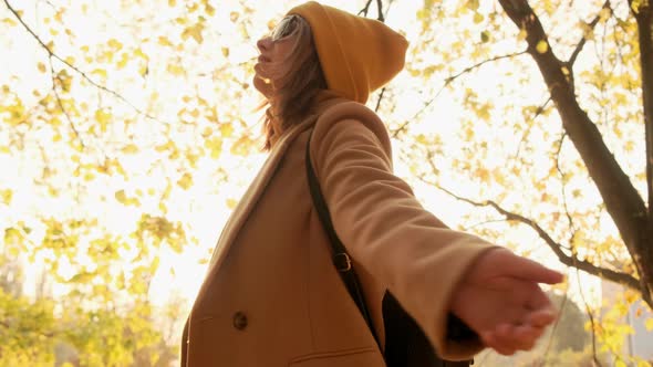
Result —
[[[313,205],[320,216],[322,227],[329,235],[333,249],[333,263],[335,269],[340,273],[350,295],[365,318],[367,327],[372,332],[376,343],[380,343],[376,333],[374,332],[374,327],[372,326],[372,318],[370,317],[370,312],[365,305],[365,300],[363,298],[356,273],[352,268],[352,261],[333,229],[329,208],[326,207],[326,202],[320,190],[320,184],[318,182],[318,178],[315,177],[311,164],[311,136],[312,132],[310,133],[307,143],[305,165]],[[474,364],[474,360],[452,361],[440,359],[419,325],[417,325],[415,319],[406,313],[392,293],[387,291],[383,296],[382,312],[383,325],[385,327],[384,359],[387,367],[467,367],[470,364]],[[449,315],[447,333],[448,337],[456,339],[476,337],[474,331],[467,327],[465,323],[454,315]]]

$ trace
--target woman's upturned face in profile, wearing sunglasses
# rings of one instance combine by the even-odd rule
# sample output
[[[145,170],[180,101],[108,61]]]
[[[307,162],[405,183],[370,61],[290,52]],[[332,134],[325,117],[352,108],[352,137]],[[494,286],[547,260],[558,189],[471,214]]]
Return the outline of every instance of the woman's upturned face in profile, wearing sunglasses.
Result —
[[[270,35],[257,42],[260,55],[253,66],[253,85],[268,98],[283,84],[283,77],[289,69],[286,61],[294,46],[294,29],[292,15],[286,17]]]

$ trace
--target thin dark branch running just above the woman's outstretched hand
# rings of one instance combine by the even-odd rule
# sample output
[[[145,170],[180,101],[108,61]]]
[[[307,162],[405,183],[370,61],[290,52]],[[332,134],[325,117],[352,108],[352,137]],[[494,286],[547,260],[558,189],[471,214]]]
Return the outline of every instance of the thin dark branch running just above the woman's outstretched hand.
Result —
[[[560,260],[561,263],[563,263],[564,265],[568,266],[573,266],[577,269],[580,269],[582,271],[584,271],[588,274],[592,274],[592,275],[597,275],[600,276],[602,279],[612,281],[614,283],[619,283],[622,285],[625,285],[632,290],[635,290],[638,292],[641,292],[641,287],[640,287],[640,281],[626,273],[622,273],[622,272],[618,272],[611,269],[605,269],[605,268],[601,268],[601,266],[597,266],[594,264],[592,264],[591,262],[587,261],[587,260],[579,260],[574,254],[572,255],[568,255],[567,253],[564,253],[564,251],[562,251],[562,249],[564,248],[562,244],[556,242],[556,240],[553,240],[549,233],[547,233],[547,231],[545,231],[536,221],[528,219],[521,214],[518,213],[514,213],[510,212],[506,209],[504,209],[502,207],[500,207],[498,203],[491,201],[491,200],[487,200],[484,202],[478,202],[478,201],[474,201],[471,199],[467,199],[467,198],[463,198],[460,196],[457,196],[456,193],[452,192],[450,190],[447,190],[446,188],[439,186],[439,185],[435,185],[435,187],[437,187],[439,190],[446,192],[448,196],[459,200],[459,201],[464,201],[467,202],[471,206],[475,207],[490,207],[494,208],[497,212],[499,212],[501,216],[506,217],[506,219],[508,221],[516,221],[516,222],[520,222],[524,223],[528,227],[530,227],[531,229],[533,229],[538,235],[547,243],[547,245],[553,251],[553,253],[558,256],[558,260]]]

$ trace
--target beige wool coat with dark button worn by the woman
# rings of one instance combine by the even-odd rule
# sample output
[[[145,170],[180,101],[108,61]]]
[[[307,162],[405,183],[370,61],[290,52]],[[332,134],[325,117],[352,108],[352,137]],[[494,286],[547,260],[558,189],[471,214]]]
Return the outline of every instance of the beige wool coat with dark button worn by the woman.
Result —
[[[381,339],[390,289],[440,355],[479,352],[477,340],[446,338],[447,304],[489,243],[423,209],[392,174],[390,139],[373,112],[331,99],[315,114],[274,145],[226,224],[185,328],[182,365],[385,366],[313,209],[304,166],[313,126],[315,174]]]

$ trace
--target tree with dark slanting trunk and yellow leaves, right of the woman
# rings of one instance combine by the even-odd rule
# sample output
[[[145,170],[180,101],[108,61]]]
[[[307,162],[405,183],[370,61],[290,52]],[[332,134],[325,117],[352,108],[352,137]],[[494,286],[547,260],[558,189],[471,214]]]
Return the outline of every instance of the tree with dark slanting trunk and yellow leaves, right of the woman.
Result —
[[[427,81],[445,81],[442,88],[424,93],[425,108],[415,115],[428,113],[443,91],[457,93],[454,97],[459,97],[471,115],[463,115],[468,118],[460,129],[466,135],[464,158],[450,155],[449,146],[437,135],[411,137],[407,130],[415,122],[410,118],[396,123],[394,135],[412,138],[417,147],[406,154],[412,160],[421,156],[429,161],[431,169],[414,167],[424,181],[531,228],[563,264],[623,284],[653,306],[653,40],[649,1],[592,1],[582,7],[572,1],[540,1],[531,7],[525,0],[506,0],[499,6],[481,8],[474,0],[460,4],[427,1],[421,13],[423,40],[435,38],[434,29],[442,32],[446,27],[460,35],[438,45],[436,65],[423,61],[432,49],[415,51],[419,62],[408,66],[411,73]],[[564,13],[579,20],[562,22]],[[443,19],[455,19],[466,29]],[[517,27],[510,29],[506,23]],[[593,54],[587,51],[590,46]],[[506,52],[498,54],[500,51]],[[462,54],[480,61],[457,67]],[[526,55],[535,65],[524,60]],[[500,84],[469,83],[463,93],[455,90],[455,82],[474,73],[478,76],[479,70],[491,63],[510,67],[490,69],[505,76]],[[536,71],[543,81],[540,85],[531,78]],[[524,90],[515,91],[511,85]],[[484,87],[499,88],[512,99],[502,104],[488,101],[480,93]],[[537,94],[542,103],[530,104]],[[557,115],[550,115],[552,108]],[[490,135],[488,127],[520,139],[510,145],[512,141]],[[490,151],[497,159],[488,164]],[[443,156],[454,156],[453,164],[443,162]],[[457,195],[436,181],[453,181],[454,175],[443,174],[442,165],[491,188],[477,187],[478,198]],[[588,182],[594,188],[588,189]],[[525,191],[515,192],[517,187]],[[647,201],[644,192],[649,192]],[[611,233],[608,226],[616,231]]]

